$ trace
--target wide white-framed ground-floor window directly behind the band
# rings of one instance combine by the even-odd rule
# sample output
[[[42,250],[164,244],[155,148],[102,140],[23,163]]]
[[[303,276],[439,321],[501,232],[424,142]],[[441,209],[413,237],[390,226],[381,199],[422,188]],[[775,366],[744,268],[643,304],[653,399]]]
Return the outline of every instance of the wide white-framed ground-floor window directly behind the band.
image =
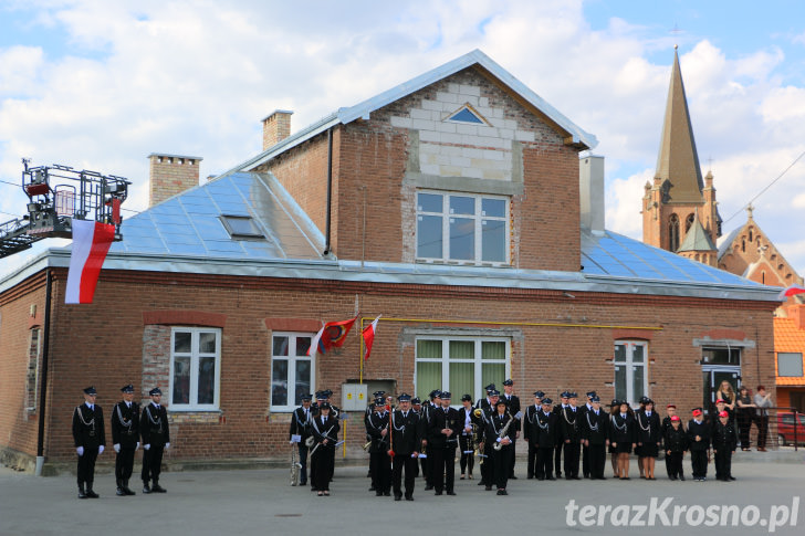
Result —
[[[502,386],[510,375],[510,344],[504,337],[417,337],[417,397],[428,400],[433,389],[448,390],[458,406],[462,395],[477,400],[489,383]]]

